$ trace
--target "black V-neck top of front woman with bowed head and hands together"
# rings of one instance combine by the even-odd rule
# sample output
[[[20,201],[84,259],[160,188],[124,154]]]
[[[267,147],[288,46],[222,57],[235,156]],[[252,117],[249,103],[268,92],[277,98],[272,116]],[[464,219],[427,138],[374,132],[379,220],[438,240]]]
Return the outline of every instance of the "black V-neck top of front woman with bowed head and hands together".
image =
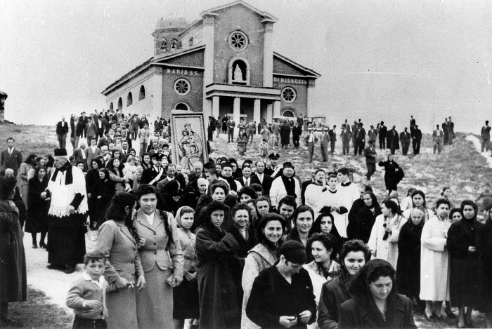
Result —
[[[308,323],[313,323],[316,321],[316,301],[308,271],[300,269],[288,283],[276,264],[261,271],[254,279],[246,305],[247,317],[261,328],[283,328],[278,323],[280,316],[310,311],[312,315]],[[307,325],[298,320],[291,328],[307,328]]]

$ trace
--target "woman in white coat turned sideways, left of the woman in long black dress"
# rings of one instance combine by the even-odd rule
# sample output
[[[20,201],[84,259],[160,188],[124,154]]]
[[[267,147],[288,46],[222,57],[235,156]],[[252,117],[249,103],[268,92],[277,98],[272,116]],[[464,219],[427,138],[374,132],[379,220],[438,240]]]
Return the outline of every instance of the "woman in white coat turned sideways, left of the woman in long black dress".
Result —
[[[382,201],[381,212],[370,232],[368,246],[373,258],[387,260],[396,267],[400,229],[406,219],[401,216],[399,204],[394,199]]]

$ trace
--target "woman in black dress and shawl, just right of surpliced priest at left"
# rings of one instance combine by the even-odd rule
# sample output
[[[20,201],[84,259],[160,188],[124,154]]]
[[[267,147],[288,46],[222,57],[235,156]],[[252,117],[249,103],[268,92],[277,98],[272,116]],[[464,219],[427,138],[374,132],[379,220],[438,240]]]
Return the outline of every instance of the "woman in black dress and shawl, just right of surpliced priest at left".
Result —
[[[108,169],[101,168],[98,170],[99,179],[95,182],[92,189],[93,198],[93,220],[96,221],[97,227],[101,227],[105,222],[105,213],[110,206],[112,196],[115,195],[115,183],[110,180]]]

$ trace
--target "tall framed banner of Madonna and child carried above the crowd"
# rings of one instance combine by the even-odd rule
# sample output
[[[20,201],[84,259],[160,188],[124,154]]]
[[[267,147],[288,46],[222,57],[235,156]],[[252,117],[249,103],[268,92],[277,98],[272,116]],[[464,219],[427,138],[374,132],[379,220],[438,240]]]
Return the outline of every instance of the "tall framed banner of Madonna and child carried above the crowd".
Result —
[[[172,161],[193,171],[193,163],[208,161],[207,138],[202,113],[171,111]]]

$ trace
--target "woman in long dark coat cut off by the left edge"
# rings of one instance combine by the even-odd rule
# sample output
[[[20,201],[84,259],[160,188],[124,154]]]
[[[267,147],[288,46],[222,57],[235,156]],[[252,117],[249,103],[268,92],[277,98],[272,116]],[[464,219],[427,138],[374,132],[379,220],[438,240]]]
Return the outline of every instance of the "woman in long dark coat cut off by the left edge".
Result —
[[[0,326],[22,325],[11,318],[8,303],[27,300],[25,266],[19,210],[13,203],[15,177],[0,177]]]

